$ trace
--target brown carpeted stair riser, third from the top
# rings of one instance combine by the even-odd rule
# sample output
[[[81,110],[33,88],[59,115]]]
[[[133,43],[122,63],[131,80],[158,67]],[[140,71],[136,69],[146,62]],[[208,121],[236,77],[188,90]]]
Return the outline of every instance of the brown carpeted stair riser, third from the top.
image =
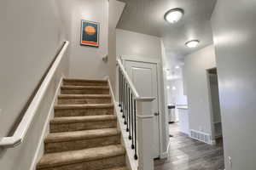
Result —
[[[110,104],[110,98],[98,99],[58,99],[59,105]]]

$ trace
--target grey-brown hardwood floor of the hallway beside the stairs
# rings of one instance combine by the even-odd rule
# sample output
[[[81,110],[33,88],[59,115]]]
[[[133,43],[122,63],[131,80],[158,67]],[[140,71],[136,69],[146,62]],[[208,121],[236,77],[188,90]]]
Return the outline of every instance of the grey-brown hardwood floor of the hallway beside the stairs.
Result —
[[[217,145],[190,139],[179,132],[177,123],[170,124],[171,144],[166,160],[155,160],[154,170],[224,170],[222,139]]]

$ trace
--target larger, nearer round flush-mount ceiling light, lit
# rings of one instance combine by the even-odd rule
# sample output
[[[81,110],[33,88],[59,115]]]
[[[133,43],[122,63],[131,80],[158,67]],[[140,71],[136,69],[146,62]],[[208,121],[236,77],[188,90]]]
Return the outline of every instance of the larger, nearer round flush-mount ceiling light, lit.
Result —
[[[165,14],[165,20],[171,24],[176,23],[183,17],[184,10],[182,8],[172,8]]]

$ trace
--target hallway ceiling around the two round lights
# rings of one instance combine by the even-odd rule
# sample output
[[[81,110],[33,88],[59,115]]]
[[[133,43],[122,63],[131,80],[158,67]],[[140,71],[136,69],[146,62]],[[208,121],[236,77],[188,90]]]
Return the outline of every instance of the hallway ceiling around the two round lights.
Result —
[[[170,67],[183,63],[184,55],[212,43],[210,19],[216,0],[119,0],[126,3],[118,28],[162,37]],[[166,11],[183,8],[183,19],[176,24],[164,20]],[[199,39],[198,48],[184,43]]]

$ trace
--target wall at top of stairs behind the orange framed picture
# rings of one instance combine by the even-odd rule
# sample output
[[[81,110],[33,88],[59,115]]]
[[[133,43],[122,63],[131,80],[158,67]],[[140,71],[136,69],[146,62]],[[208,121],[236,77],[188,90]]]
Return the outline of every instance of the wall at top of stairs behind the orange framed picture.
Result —
[[[102,57],[108,54],[108,1],[73,0],[70,76],[101,79],[108,75],[108,64]],[[80,45],[81,20],[100,23],[100,47]]]

